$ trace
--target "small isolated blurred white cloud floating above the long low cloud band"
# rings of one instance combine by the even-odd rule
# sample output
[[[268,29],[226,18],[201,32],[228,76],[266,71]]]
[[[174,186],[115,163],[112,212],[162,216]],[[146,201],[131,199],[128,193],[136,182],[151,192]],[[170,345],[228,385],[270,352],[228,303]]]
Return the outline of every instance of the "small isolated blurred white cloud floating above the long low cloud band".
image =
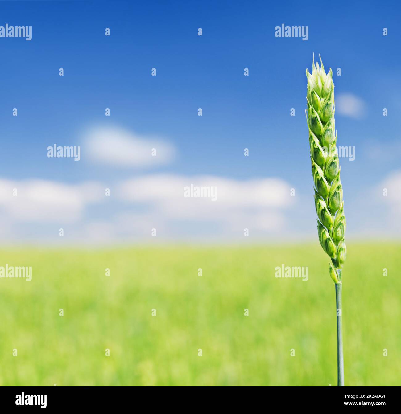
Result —
[[[160,138],[142,137],[121,128],[92,128],[86,134],[85,152],[92,161],[122,168],[168,164],[174,147]],[[152,155],[152,149],[156,155]]]

